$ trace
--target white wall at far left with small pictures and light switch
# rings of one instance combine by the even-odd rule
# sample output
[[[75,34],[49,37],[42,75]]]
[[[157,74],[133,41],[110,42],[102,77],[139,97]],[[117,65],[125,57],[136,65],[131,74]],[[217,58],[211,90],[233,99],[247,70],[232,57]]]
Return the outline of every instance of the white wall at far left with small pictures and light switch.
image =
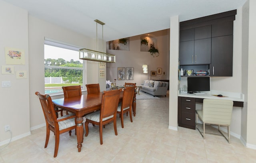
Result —
[[[28,62],[28,12],[0,0],[0,65],[13,66],[14,74],[0,73],[0,145],[8,142],[10,125],[12,136],[30,134],[29,110],[29,62]],[[5,47],[23,49],[25,65],[6,65]],[[8,57],[8,56],[7,56]],[[16,79],[16,71],[26,71],[26,79]],[[11,87],[3,88],[2,81],[10,81]]]

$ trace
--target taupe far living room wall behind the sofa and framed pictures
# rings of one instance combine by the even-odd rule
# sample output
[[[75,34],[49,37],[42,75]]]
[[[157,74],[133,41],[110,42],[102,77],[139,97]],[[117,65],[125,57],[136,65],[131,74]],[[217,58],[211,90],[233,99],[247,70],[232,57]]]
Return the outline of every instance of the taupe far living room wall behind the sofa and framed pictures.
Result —
[[[157,68],[162,68],[162,71],[169,72],[169,29],[150,33],[156,38],[155,47],[159,51],[158,57],[153,57],[149,52],[140,51],[140,35],[130,37],[130,50],[110,50],[107,53],[116,55],[116,63],[107,63],[107,80],[114,82],[117,78],[118,67],[134,67],[134,80],[116,80],[116,84],[123,85],[125,82],[136,82],[140,85],[144,80],[148,79],[148,75],[142,72],[142,65],[148,65],[149,79],[167,80],[168,76],[157,75],[150,76],[150,71],[157,71]],[[108,42],[107,42],[108,45]],[[168,73],[169,74],[169,73]]]

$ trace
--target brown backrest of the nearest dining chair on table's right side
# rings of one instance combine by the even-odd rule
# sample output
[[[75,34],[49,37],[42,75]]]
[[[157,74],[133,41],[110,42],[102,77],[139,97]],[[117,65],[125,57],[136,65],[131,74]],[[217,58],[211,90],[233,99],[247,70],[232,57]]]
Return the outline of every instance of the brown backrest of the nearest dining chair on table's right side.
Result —
[[[122,89],[103,91],[101,109],[100,109],[100,122],[103,118],[114,115],[116,117],[116,110],[119,102],[119,96]]]

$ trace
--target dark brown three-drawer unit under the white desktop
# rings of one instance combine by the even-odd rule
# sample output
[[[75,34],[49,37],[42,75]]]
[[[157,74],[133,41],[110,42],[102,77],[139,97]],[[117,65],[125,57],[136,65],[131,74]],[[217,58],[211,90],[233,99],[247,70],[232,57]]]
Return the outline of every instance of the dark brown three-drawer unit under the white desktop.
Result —
[[[196,129],[196,98],[178,97],[178,125]]]

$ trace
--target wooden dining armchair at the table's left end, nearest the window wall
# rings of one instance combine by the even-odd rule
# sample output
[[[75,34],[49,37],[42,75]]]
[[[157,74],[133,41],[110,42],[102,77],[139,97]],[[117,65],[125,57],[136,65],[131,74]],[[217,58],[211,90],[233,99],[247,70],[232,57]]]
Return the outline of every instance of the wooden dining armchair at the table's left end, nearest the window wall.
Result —
[[[57,118],[54,110],[54,104],[52,103],[52,98],[48,94],[44,95],[40,94],[39,92],[36,92],[36,95],[39,97],[46,121],[46,140],[44,148],[46,148],[48,145],[50,131],[52,131],[55,135],[54,157],[56,157],[58,154],[60,134],[76,129],[76,116],[65,115]],[[71,135],[71,133],[69,133],[69,135]]]

